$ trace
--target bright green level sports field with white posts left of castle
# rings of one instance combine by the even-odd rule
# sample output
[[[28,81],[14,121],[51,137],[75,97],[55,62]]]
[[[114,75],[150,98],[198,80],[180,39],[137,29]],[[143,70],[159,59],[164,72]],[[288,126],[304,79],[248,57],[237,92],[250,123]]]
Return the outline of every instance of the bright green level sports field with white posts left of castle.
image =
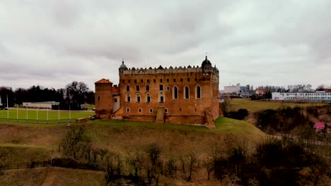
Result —
[[[48,111],[48,120],[68,119],[68,118],[86,118],[94,115],[94,111]],[[0,110],[0,118],[11,119],[29,119],[29,120],[47,120],[47,111],[36,109],[10,109],[8,111]]]

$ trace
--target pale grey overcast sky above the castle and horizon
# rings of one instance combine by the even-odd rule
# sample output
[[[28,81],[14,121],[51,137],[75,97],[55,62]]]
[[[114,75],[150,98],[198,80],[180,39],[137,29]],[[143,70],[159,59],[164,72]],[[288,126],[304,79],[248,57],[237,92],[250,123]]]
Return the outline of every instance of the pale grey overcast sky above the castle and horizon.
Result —
[[[201,66],[224,85],[331,85],[331,1],[0,1],[0,86],[94,90],[128,68]]]

